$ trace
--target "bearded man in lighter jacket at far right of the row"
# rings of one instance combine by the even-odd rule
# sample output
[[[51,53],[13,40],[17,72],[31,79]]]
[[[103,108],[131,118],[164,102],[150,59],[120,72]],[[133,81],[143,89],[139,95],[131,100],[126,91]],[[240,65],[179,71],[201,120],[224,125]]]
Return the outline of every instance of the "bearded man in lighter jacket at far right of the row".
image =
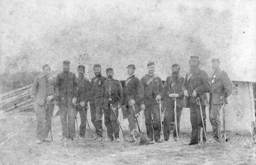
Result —
[[[210,90],[209,116],[213,128],[213,139],[210,142],[220,142],[220,107],[222,104],[227,104],[227,97],[233,90],[233,84],[230,81],[228,74],[220,70],[220,60],[212,59],[212,87]]]

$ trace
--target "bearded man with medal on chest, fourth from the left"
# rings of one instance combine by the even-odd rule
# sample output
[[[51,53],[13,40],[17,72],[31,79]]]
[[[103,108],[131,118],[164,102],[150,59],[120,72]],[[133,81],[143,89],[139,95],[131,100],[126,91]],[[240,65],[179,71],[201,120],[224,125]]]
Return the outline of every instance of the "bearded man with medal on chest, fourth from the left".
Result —
[[[106,81],[107,77],[101,75],[101,67],[100,64],[94,64],[93,71],[95,77],[92,78],[92,91],[91,91],[91,119],[92,124],[96,129],[97,136],[94,138],[98,141],[102,140],[102,111],[101,111],[101,90],[103,86],[103,82]]]

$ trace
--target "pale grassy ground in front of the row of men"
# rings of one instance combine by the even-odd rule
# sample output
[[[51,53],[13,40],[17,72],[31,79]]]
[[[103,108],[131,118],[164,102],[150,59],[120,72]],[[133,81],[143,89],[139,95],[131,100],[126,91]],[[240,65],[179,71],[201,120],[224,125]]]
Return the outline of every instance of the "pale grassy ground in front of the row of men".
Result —
[[[97,142],[91,139],[88,130],[84,140],[68,140],[66,144],[63,143],[60,140],[60,117],[52,118],[51,143],[35,143],[36,122],[32,112],[1,114],[0,129],[0,159],[4,165],[255,164],[256,161],[256,145],[251,145],[249,133],[228,132],[230,140],[227,143],[204,146],[184,145],[190,135],[181,133],[179,142],[168,141],[137,147],[124,141],[124,150],[120,151],[119,143],[115,140]],[[207,136],[209,139],[212,134],[207,133]]]

